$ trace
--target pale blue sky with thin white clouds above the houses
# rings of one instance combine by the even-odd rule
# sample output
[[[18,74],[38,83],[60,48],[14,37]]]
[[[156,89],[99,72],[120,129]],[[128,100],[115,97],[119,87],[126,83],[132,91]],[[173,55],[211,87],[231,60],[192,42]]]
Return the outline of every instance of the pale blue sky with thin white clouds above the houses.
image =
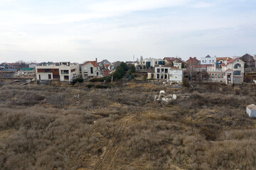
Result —
[[[0,63],[256,54],[255,0],[0,0]]]

